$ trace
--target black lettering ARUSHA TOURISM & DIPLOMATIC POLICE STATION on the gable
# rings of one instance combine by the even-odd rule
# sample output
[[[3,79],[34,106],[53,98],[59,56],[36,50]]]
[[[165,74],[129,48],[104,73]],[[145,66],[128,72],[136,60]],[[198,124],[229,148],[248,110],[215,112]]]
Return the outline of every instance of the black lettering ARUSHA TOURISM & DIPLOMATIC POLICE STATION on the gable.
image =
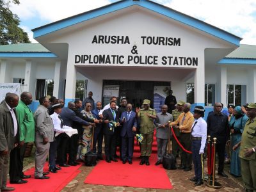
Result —
[[[142,45],[159,45],[180,47],[181,39],[165,36],[140,36]],[[92,44],[124,44],[131,45],[129,36],[95,35]],[[173,65],[173,66],[198,66],[197,57],[183,56],[141,56],[138,54],[140,47],[131,45],[128,55],[116,54],[76,54],[76,64],[118,64],[118,65]]]

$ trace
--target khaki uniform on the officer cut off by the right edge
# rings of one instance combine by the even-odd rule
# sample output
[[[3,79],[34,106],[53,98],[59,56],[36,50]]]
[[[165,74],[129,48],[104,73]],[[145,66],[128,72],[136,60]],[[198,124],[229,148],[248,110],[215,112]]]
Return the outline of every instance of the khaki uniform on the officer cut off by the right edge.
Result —
[[[256,152],[244,157],[244,149],[256,146],[256,118],[248,119],[242,134],[239,157],[241,158],[241,173],[245,188],[256,191]]]

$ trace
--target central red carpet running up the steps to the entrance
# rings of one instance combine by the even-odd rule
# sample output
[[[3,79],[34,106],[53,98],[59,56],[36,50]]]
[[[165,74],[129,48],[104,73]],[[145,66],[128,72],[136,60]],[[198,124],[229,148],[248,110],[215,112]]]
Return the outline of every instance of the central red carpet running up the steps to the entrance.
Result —
[[[156,138],[154,138],[156,140]],[[84,183],[107,186],[130,186],[136,188],[172,189],[172,184],[162,166],[155,166],[157,161],[156,141],[153,143],[150,166],[140,165],[140,148],[134,143],[132,164],[122,161],[107,163],[98,161]]]

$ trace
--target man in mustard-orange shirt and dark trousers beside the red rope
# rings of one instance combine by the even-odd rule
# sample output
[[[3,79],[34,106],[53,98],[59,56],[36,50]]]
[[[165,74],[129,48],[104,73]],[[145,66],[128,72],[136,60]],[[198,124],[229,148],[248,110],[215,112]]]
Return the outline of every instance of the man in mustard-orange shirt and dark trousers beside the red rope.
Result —
[[[178,125],[180,129],[180,144],[186,149],[191,151],[191,127],[194,122],[194,116],[189,111],[191,108],[190,103],[186,103],[183,106],[183,113],[180,114],[179,118],[171,123],[171,125]],[[182,151],[181,162],[179,169],[184,169],[184,172],[192,170],[192,155]]]

